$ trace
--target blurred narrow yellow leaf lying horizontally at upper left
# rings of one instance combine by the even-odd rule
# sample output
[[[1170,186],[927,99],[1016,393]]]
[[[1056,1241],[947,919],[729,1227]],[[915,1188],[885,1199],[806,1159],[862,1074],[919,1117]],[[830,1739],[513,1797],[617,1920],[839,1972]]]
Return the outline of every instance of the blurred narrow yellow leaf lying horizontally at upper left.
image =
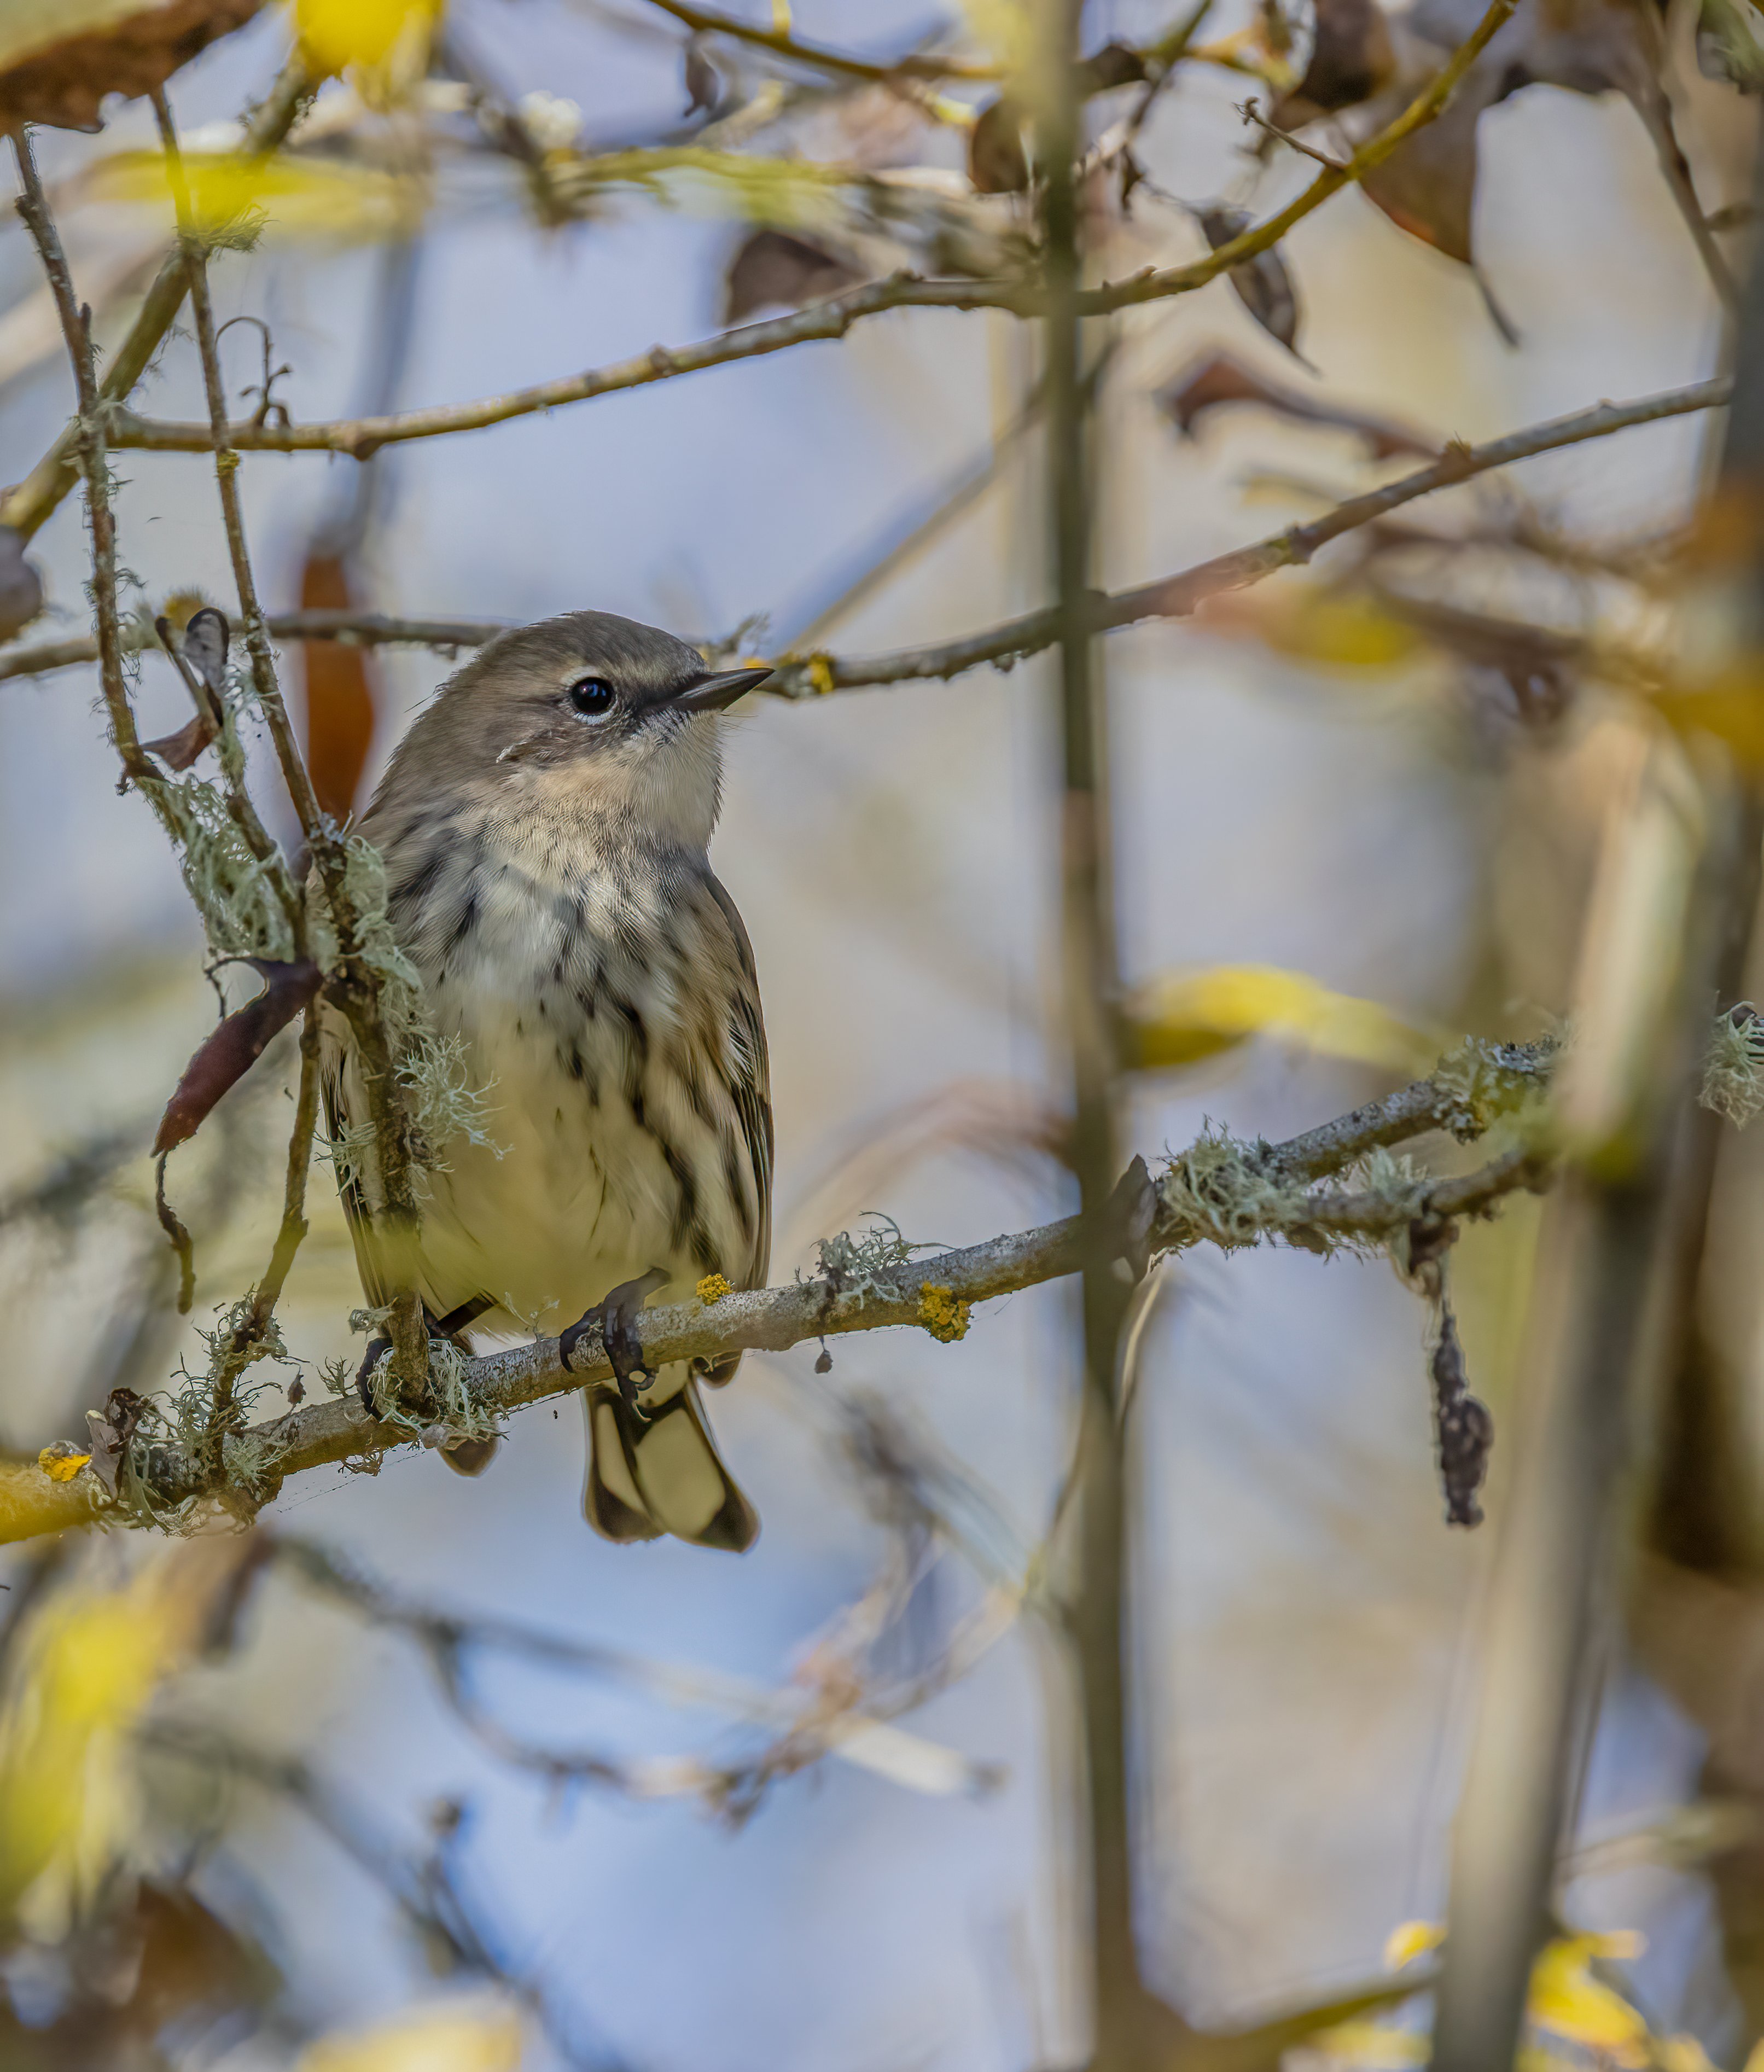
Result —
[[[184,178],[191,213],[205,234],[261,213],[294,236],[381,238],[415,228],[425,201],[417,180],[290,155],[191,151],[184,155]],[[118,151],[93,168],[91,186],[99,201],[172,211],[166,162],[158,151]]]

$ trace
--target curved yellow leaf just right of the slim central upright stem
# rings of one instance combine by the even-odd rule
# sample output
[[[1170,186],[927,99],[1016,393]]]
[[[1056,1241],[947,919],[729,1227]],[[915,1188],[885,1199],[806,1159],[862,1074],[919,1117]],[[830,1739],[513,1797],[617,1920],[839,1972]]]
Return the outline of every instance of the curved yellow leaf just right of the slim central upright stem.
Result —
[[[1142,1071],[1192,1065],[1262,1032],[1416,1075],[1449,1046],[1441,1030],[1271,963],[1215,963],[1148,980],[1132,992],[1126,1021],[1130,1059]]]

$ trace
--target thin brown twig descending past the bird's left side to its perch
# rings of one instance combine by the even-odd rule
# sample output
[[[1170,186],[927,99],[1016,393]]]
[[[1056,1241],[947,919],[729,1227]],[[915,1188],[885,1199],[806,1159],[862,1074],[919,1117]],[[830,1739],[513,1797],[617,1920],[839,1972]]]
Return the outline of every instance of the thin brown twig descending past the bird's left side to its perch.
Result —
[[[191,315],[195,317],[197,350],[203,367],[203,387],[207,394],[209,431],[214,437],[214,472],[220,489],[222,522],[232,559],[232,578],[238,588],[238,609],[245,620],[245,646],[251,657],[251,682],[257,702],[269,727],[276,760],[294,802],[301,831],[313,856],[313,868],[325,889],[332,920],[338,934],[338,968],[330,976],[328,997],[336,1001],[348,1017],[350,1032],[363,1063],[363,1080],[373,1119],[373,1146],[379,1177],[379,1225],[381,1247],[388,1258],[394,1287],[388,1334],[392,1336],[396,1374],[400,1382],[417,1390],[429,1372],[429,1341],[423,1328],[421,1303],[410,1285],[417,1235],[417,1193],[410,1171],[410,1133],[404,1102],[398,1090],[396,1057],[381,1013],[383,988],[379,974],[363,955],[361,916],[348,879],[348,850],[334,823],[319,806],[313,779],[301,754],[282,686],[276,675],[276,655],[269,646],[269,628],[257,599],[257,580],[251,570],[251,549],[245,535],[245,510],[238,495],[238,452],[228,443],[226,383],[216,344],[214,298],[207,280],[207,251],[197,232],[191,209],[191,191],[184,176],[184,162],[178,149],[178,133],[164,87],[153,89],[153,114],[160,122],[160,141],[166,151],[166,176],[172,189],[172,205],[178,218],[178,242],[184,255],[189,278]],[[298,953],[305,955],[305,930],[296,934]],[[311,1021],[311,1013],[309,1013]],[[305,1080],[305,1069],[303,1069]],[[305,1189],[305,1179],[303,1179]],[[298,1220],[298,1218],[296,1218]],[[284,1218],[284,1233],[292,1225]],[[294,1239],[298,1243],[298,1239]],[[278,1241],[280,1249],[280,1241]],[[292,1254],[290,1254],[292,1258]],[[286,1270],[286,1268],[284,1268]]]

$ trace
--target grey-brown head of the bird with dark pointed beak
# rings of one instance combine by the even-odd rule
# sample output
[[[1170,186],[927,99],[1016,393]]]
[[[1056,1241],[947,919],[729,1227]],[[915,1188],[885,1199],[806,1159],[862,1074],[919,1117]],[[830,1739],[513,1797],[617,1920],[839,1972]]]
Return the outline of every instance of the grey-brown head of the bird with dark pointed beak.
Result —
[[[719,715],[769,675],[709,669],[674,634],[609,611],[520,626],[442,686],[381,796],[452,785],[703,847],[721,794]]]

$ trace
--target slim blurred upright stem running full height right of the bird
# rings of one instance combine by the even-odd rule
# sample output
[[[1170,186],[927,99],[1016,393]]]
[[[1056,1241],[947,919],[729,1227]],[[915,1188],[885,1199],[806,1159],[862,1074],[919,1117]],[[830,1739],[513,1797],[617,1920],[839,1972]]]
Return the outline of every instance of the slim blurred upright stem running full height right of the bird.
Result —
[[[1082,195],[1074,168],[1082,145],[1076,75],[1082,0],[1041,0],[1041,10],[1036,155],[1047,269],[1047,516],[1059,624],[1063,773],[1059,941],[1072,1044],[1074,1162],[1086,1233],[1074,1641],[1088,1784],[1092,2066],[1097,2072],[1123,2072],[1150,2060],[1157,2008],[1140,1983],[1134,1946],[1126,1674],[1128,1492],[1115,1399],[1115,1347],[1128,1289],[1113,1272],[1105,1214],[1119,1167],[1119,1059],[1105,686],[1090,611],[1094,474],[1078,315]]]

